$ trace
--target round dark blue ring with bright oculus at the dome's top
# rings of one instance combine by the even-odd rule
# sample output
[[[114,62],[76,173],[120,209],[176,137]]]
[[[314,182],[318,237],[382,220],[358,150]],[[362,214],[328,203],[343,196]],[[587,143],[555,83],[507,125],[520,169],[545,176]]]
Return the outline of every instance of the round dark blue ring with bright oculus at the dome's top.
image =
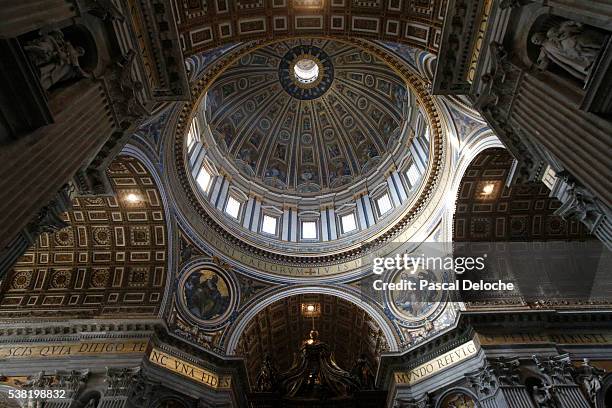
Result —
[[[331,86],[334,66],[322,49],[313,45],[299,45],[281,58],[278,78],[285,91],[294,98],[316,99]]]

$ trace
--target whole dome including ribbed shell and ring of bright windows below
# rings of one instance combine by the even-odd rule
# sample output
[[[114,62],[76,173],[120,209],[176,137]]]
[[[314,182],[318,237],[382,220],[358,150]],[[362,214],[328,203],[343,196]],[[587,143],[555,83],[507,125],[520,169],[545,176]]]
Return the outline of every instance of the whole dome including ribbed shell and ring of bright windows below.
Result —
[[[247,44],[227,60],[185,107],[177,163],[193,220],[275,258],[383,245],[406,220],[427,222],[415,216],[435,187],[441,134],[401,61],[376,43],[314,38]]]

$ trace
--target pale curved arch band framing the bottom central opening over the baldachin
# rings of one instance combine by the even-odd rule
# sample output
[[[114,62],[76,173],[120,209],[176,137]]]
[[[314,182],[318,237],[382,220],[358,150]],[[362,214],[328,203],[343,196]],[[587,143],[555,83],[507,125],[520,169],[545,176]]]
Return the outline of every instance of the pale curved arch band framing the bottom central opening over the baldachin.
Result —
[[[362,308],[382,330],[385,340],[387,341],[387,345],[389,346],[389,351],[399,350],[398,339],[396,337],[394,327],[386,318],[384,311],[377,305],[363,301],[363,298],[360,296],[357,290],[349,291],[349,289],[346,289],[345,287],[340,288],[332,285],[300,285],[292,286],[290,288],[283,288],[277,292],[265,293],[265,297],[260,296],[259,298],[255,299],[256,301],[251,301],[249,307],[244,307],[243,312],[236,317],[235,323],[232,325],[232,330],[227,335],[228,337],[225,341],[226,353],[228,355],[233,355],[236,353],[236,347],[238,346],[240,337],[242,336],[247,324],[267,306],[289,296],[308,293],[336,296]]]

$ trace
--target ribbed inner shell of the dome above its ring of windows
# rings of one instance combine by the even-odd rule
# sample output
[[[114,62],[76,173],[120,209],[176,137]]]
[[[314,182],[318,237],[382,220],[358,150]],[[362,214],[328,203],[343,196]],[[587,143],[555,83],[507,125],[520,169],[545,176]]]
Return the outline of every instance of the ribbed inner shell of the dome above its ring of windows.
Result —
[[[409,91],[373,55],[340,42],[278,42],[244,55],[206,95],[219,151],[277,192],[335,192],[371,174],[402,134]]]

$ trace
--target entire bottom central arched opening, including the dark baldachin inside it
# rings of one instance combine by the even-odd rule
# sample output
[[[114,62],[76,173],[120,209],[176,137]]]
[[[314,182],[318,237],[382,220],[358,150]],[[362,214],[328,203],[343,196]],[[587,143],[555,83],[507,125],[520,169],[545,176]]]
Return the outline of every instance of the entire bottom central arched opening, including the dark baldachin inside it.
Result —
[[[254,406],[382,406],[375,370],[382,330],[356,304],[327,294],[285,297],[260,310],[239,342]]]

